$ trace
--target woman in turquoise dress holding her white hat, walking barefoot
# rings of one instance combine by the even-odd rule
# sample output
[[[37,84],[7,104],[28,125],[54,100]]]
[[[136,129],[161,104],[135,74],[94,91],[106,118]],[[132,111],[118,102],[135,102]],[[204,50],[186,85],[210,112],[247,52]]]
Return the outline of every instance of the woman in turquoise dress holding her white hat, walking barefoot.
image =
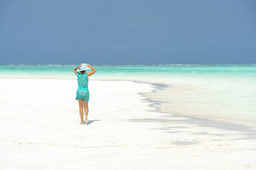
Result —
[[[91,72],[86,73],[88,69],[92,69]],[[76,90],[76,99],[79,104],[79,112],[81,118],[81,125],[83,125],[83,108],[85,109],[85,123],[88,124],[88,102],[89,102],[89,90],[88,90],[88,77],[93,75],[96,69],[90,64],[81,64],[74,69],[74,73],[77,75],[78,89]]]

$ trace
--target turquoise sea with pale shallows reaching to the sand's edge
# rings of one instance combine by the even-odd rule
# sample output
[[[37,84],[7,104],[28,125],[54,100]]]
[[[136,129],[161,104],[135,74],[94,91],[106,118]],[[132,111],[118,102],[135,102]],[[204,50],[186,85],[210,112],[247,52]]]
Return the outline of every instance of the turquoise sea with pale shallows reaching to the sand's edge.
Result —
[[[1,65],[0,79],[76,79],[74,67]],[[167,101],[167,104],[164,104],[165,111],[240,121],[256,127],[256,64],[94,67],[97,72],[91,80],[135,80],[168,84],[164,93],[156,95],[158,99],[152,99]]]

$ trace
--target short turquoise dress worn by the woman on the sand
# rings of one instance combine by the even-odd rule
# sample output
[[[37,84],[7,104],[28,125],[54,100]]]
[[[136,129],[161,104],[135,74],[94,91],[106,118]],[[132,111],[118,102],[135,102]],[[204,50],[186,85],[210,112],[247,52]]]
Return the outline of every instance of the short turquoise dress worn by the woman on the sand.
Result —
[[[88,75],[87,73],[77,72],[78,89],[76,90],[76,99],[89,101]]]

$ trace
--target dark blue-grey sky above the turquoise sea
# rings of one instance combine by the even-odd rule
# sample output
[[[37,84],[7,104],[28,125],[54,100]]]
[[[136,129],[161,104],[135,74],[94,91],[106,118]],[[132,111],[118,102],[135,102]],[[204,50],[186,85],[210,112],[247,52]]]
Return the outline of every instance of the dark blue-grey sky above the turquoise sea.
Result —
[[[256,63],[256,1],[0,1],[0,64],[81,62]]]

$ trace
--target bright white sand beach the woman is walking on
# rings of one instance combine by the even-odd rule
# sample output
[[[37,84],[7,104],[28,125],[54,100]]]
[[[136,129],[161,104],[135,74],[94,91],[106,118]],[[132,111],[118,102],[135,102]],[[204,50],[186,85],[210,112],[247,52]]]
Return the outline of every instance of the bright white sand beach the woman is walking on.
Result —
[[[3,170],[256,169],[254,127],[161,112],[152,84],[90,81],[89,125],[79,124],[76,80],[0,87]]]

